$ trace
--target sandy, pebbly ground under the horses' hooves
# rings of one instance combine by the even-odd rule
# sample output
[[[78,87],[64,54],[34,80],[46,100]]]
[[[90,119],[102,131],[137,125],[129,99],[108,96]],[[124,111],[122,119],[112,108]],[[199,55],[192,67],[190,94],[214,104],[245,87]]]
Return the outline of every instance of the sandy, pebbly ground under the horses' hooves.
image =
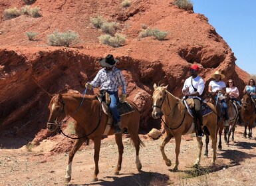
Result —
[[[130,139],[124,138],[124,158],[120,175],[114,175],[118,152],[114,136],[109,136],[102,140],[99,181],[91,182],[94,172],[94,147],[90,143],[82,146],[74,156],[69,185],[255,185],[255,138],[242,138],[242,133],[243,127],[237,126],[235,141],[231,141],[229,146],[222,143],[223,149],[217,150],[215,166],[211,166],[212,151],[209,151],[208,158],[202,155],[199,169],[192,168],[197,156],[195,137],[185,136],[182,140],[178,172],[167,167],[162,159],[159,149],[162,137],[152,140],[146,136],[140,136],[146,147],[140,150],[142,171],[138,172],[135,149],[130,145]],[[54,144],[55,141],[45,140],[31,151],[25,146],[19,149],[1,148],[0,185],[64,185],[68,153],[49,152]],[[175,162],[174,145],[174,140],[166,145],[166,154],[172,163]]]

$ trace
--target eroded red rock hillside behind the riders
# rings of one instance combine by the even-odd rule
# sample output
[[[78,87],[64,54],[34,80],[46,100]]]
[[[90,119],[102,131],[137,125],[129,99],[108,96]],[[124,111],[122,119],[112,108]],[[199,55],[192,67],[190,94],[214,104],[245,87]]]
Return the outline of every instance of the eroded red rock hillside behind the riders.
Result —
[[[2,135],[25,134],[32,139],[38,136],[37,142],[47,138],[50,134],[43,130],[51,95],[70,89],[82,93],[84,84],[101,68],[98,60],[109,53],[120,58],[118,68],[127,80],[128,98],[136,102],[141,112],[141,130],[160,126],[160,120],[153,120],[151,116],[153,84],[168,84],[168,91],[181,97],[192,63],[201,67],[200,76],[206,88],[210,75],[221,70],[227,77],[225,81],[232,78],[242,91],[249,74],[235,65],[231,48],[203,15],[178,9],[170,1],[136,1],[127,9],[120,6],[120,1],[110,3],[111,9],[104,0],[96,4],[89,0],[79,3],[38,0],[33,5],[41,7],[42,17],[22,15],[11,20],[1,19]],[[9,7],[22,6],[21,2],[3,0],[0,13]],[[90,17],[98,14],[108,21],[118,21],[118,32],[128,38],[126,45],[112,48],[98,43],[103,33],[90,25]],[[168,31],[168,37],[164,41],[151,37],[139,39],[142,24]],[[56,29],[72,29],[82,42],[70,48],[48,46],[47,35]],[[31,30],[39,33],[36,41],[29,41],[24,35]],[[88,91],[88,94],[96,92]]]

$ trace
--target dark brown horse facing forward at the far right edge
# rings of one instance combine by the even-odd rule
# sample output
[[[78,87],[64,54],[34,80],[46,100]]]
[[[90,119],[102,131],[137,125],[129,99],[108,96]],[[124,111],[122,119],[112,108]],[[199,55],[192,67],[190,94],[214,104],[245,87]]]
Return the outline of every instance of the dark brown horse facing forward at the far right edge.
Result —
[[[253,123],[256,118],[255,114],[255,105],[253,104],[253,100],[251,100],[251,95],[249,93],[243,95],[243,102],[241,108],[241,119],[245,124],[245,132],[243,136],[247,137],[247,126],[248,126],[248,138],[252,138],[252,131],[253,131]]]

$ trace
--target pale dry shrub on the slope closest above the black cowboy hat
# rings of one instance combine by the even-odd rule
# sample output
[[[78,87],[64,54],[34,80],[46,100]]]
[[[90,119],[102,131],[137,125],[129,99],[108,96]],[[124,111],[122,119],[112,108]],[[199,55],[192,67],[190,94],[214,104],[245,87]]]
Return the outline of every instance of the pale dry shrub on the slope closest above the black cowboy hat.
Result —
[[[100,43],[113,47],[120,47],[126,43],[126,36],[120,34],[116,34],[114,37],[110,35],[102,35],[98,39],[100,40]]]

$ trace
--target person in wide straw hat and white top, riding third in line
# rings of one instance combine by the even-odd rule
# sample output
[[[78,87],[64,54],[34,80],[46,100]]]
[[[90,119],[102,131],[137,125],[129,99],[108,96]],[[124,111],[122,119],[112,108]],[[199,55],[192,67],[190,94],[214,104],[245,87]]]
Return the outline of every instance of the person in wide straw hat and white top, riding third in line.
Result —
[[[209,87],[208,87],[208,92],[216,92],[218,96],[216,96],[216,99],[222,98],[221,99],[221,104],[225,110],[225,122],[223,123],[224,127],[229,126],[229,116],[227,114],[227,104],[225,102],[225,99],[223,98],[223,95],[226,94],[226,85],[225,82],[222,81],[223,78],[225,78],[224,74],[221,74],[218,70],[214,72],[214,74],[211,75],[211,78],[215,78],[215,80],[211,80],[209,82]],[[218,101],[218,100],[216,100]]]

